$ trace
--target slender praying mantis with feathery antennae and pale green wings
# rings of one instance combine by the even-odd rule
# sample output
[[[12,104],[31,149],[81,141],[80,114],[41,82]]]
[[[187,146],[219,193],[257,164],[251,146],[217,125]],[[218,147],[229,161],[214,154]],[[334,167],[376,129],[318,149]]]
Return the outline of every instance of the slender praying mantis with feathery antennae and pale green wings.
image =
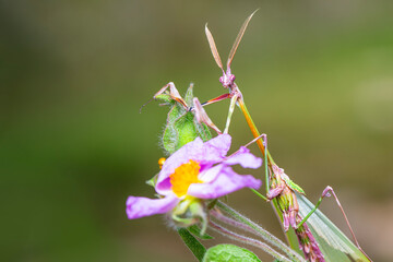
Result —
[[[255,139],[260,138],[261,134],[258,131],[257,126],[254,124],[246,107],[240,88],[235,83],[236,78],[231,73],[230,66],[246,28],[257,11],[249,15],[241,25],[235,43],[229,51],[226,70],[224,70],[213,35],[207,28],[207,24],[205,25],[205,34],[213,58],[223,72],[223,76],[219,78],[219,82],[224,88],[227,88],[229,92],[201,104],[201,106],[206,106],[226,98],[230,98],[229,111],[224,133],[228,132],[235,105],[237,105],[245,115],[246,121]],[[194,108],[189,108],[189,110],[193,109]],[[303,190],[289,179],[289,177],[284,172],[284,169],[279,168],[274,163],[273,157],[267,151],[266,135],[262,135],[262,139],[257,141],[257,144],[265,158],[266,196],[259,192],[255,193],[258,193],[266,201],[273,202],[273,205],[277,211],[281,221],[283,222],[284,231],[287,233],[289,226],[295,229],[295,234],[300,243],[300,247],[303,249],[302,251],[305,257],[309,261],[371,261],[371,259],[360,248],[350,227],[349,221],[347,219],[347,216],[333,189],[331,187],[326,187],[323,190],[323,193],[317,205],[313,205],[305,196]],[[338,204],[345,217],[345,221],[355,240],[355,245],[318,210],[322,199],[330,196],[331,194],[336,200],[336,203]],[[288,233],[287,237],[291,247],[295,248],[296,240],[294,240],[294,238],[296,239],[296,237],[294,234]]]

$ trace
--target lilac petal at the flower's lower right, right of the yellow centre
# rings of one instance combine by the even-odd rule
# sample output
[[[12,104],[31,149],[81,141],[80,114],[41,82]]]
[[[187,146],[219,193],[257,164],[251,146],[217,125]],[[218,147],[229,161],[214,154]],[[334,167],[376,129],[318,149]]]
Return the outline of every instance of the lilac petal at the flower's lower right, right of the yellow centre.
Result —
[[[230,167],[224,167],[211,182],[190,184],[187,194],[200,199],[216,199],[242,188],[259,189],[262,182],[250,175],[238,175]]]

